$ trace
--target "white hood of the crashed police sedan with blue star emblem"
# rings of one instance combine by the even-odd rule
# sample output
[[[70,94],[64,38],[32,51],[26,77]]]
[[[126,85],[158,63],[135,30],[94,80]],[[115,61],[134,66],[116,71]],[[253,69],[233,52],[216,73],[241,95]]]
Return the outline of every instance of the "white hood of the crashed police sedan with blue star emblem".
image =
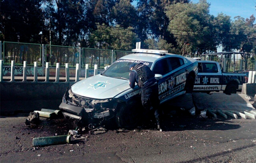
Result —
[[[93,99],[107,99],[129,89],[129,81],[103,75],[95,75],[77,82],[71,87],[73,93]]]

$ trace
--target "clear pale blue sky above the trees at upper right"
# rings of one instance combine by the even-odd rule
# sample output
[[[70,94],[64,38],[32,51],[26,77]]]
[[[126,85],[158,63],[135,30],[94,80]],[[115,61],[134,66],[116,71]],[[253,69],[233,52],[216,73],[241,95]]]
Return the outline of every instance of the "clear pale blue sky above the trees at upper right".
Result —
[[[199,0],[190,0],[190,2],[197,3]],[[231,16],[232,20],[235,16],[244,19],[250,18],[251,15],[256,17],[256,0],[207,0],[207,2],[211,4],[210,14],[215,17],[221,12]]]

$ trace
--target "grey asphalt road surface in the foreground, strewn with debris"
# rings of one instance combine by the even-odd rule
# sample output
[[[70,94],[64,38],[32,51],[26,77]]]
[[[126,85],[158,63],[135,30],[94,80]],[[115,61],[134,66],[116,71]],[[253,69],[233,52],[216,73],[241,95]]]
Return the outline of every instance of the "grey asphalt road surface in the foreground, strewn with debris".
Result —
[[[109,129],[73,144],[34,148],[33,137],[67,134],[74,126],[63,118],[40,117],[39,126],[25,127],[27,116],[1,116],[1,163],[256,163],[253,119],[214,120],[174,110],[164,118],[164,132]]]

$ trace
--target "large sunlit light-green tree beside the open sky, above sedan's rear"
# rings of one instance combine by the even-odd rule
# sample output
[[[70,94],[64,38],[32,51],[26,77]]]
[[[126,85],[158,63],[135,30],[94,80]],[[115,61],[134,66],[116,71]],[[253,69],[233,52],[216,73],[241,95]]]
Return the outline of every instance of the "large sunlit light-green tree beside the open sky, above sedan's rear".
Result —
[[[175,3],[166,9],[170,23],[168,30],[175,36],[177,44],[185,53],[216,51],[218,40],[214,17],[209,14],[209,3]]]

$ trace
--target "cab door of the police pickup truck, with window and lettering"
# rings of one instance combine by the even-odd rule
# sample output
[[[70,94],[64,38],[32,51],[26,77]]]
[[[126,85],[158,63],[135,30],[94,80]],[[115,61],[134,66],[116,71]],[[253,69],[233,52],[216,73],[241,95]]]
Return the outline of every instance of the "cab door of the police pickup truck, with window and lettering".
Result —
[[[218,63],[198,62],[198,75],[195,79],[194,91],[220,91],[222,73]]]

